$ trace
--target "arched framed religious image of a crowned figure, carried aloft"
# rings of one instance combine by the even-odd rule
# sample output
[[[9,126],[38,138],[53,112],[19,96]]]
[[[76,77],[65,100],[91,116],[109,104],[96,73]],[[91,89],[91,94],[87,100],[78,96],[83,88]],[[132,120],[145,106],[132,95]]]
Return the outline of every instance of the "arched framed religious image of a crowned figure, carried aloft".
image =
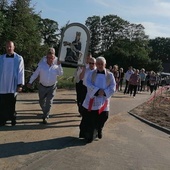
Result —
[[[80,23],[69,24],[62,33],[59,60],[67,65],[84,65],[88,53],[90,33]]]

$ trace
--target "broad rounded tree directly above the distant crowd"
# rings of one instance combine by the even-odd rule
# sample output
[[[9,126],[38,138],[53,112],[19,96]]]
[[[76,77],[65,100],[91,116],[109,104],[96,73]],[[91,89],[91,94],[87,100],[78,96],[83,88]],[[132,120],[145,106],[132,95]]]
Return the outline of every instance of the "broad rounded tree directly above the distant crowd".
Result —
[[[113,20],[111,26],[106,23]],[[128,68],[132,65],[135,68],[142,68],[149,62],[148,36],[145,35],[144,27],[142,25],[131,24],[122,20],[117,16],[106,17],[105,27],[110,30],[106,31],[102,42],[106,41],[104,52],[105,58],[108,60],[108,66],[118,64],[120,67]],[[109,23],[109,25],[111,25]],[[111,38],[110,38],[111,37]]]

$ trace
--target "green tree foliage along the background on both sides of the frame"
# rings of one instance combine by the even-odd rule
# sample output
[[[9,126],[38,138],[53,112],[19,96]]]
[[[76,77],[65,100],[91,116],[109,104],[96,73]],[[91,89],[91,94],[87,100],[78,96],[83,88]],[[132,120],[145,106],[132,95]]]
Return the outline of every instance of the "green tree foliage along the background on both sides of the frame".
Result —
[[[31,7],[31,0],[0,0],[0,53],[5,52],[5,42],[14,41],[16,52],[25,60],[26,69],[35,67],[46,49],[58,50],[65,26],[41,18]],[[170,39],[149,40],[141,24],[130,23],[117,15],[91,16],[85,21],[90,31],[89,49],[94,57],[103,55],[107,66],[146,67],[160,71],[162,62],[170,60]]]

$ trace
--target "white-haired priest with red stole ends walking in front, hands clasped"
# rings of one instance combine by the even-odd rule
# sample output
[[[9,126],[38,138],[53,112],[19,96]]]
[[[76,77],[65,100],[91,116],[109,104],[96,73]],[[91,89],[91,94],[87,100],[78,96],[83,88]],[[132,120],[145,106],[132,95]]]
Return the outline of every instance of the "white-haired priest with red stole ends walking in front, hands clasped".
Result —
[[[86,81],[87,95],[83,102],[83,116],[80,123],[80,138],[92,142],[102,138],[102,129],[108,119],[110,97],[116,90],[116,82],[111,72],[106,70],[104,57],[96,58],[96,67]]]

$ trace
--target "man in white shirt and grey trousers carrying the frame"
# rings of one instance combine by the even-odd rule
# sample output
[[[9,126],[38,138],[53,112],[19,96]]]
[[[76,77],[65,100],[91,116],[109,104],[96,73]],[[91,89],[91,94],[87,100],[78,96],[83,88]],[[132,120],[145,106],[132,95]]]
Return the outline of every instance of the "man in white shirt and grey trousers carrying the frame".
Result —
[[[58,60],[57,65],[54,64],[55,55],[53,53],[49,51],[46,59],[46,62],[39,64],[27,84],[27,87],[30,88],[33,81],[39,76],[39,104],[43,111],[42,118],[44,124],[47,123],[47,119],[49,118],[57,86],[57,76],[63,75],[61,62]]]

